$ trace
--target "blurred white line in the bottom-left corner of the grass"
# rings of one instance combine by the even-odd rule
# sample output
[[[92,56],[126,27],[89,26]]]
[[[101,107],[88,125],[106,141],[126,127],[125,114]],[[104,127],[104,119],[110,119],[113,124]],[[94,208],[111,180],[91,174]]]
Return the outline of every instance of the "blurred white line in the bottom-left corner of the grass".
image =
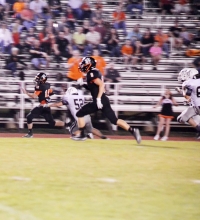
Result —
[[[39,220],[38,218],[28,213],[27,211],[25,212],[18,211],[17,209],[14,209],[11,206],[7,206],[1,203],[0,203],[0,211],[6,212],[9,215],[15,216],[17,220]]]

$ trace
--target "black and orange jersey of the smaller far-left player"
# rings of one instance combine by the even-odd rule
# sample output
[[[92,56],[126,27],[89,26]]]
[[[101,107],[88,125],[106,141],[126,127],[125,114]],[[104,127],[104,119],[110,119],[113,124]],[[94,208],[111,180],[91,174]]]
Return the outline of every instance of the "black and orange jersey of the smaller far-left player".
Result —
[[[51,101],[50,96],[53,95],[53,90],[50,88],[49,83],[43,83],[35,86],[34,94],[38,96],[38,101],[41,104],[46,104]]]

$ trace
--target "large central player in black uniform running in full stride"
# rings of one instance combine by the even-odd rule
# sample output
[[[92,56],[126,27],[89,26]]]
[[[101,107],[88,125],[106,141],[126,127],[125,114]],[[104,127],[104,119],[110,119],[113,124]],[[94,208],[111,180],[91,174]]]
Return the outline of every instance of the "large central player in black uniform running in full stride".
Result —
[[[83,80],[80,79],[77,82],[80,85],[84,85],[86,89],[91,92],[93,101],[84,105],[76,114],[78,118],[78,127],[79,134],[73,137],[73,140],[85,140],[86,136],[84,133],[85,130],[85,115],[90,115],[98,110],[101,110],[105,117],[109,121],[118,125],[126,131],[129,131],[136,139],[137,143],[141,142],[141,136],[139,129],[133,128],[128,125],[124,120],[118,119],[110,106],[110,101],[105,94],[104,82],[102,75],[96,67],[96,61],[92,57],[84,57],[79,65],[81,72],[86,74],[87,84],[83,83]]]

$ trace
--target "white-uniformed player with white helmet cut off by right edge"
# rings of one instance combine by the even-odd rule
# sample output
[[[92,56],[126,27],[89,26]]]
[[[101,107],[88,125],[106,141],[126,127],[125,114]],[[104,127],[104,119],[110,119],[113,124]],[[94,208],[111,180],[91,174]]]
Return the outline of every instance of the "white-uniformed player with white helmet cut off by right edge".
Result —
[[[195,116],[200,115],[200,75],[194,68],[184,68],[179,72],[178,81],[182,82],[182,89],[176,90],[183,94],[190,106],[177,118],[180,123],[189,123],[200,134],[200,124]]]

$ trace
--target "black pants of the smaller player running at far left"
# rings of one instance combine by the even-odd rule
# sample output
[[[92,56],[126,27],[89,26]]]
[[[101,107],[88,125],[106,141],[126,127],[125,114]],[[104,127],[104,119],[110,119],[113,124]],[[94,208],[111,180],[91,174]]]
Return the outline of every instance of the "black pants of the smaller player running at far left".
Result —
[[[48,122],[51,126],[55,126],[55,121],[53,119],[53,116],[51,114],[50,108],[44,108],[43,106],[38,106],[32,109],[29,114],[27,115],[27,123],[31,124],[33,118],[38,118],[40,116],[43,116],[46,122]]]

